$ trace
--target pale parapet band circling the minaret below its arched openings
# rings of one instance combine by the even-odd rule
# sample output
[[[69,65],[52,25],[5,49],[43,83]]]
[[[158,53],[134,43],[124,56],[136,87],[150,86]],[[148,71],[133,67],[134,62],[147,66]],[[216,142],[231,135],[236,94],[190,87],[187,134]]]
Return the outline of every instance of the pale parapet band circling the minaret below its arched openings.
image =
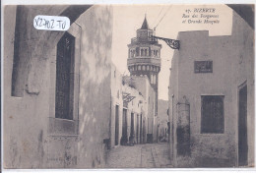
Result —
[[[139,65],[139,64],[155,65],[160,67],[160,58],[136,57],[136,58],[127,59],[128,66]]]

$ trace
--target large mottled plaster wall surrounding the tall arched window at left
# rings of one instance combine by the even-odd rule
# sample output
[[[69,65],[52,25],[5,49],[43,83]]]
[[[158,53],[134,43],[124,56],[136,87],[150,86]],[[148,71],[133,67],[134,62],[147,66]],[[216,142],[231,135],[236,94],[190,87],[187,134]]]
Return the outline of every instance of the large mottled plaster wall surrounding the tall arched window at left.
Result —
[[[64,32],[39,31],[29,23],[38,13],[57,16],[67,8],[22,8],[20,20],[27,22],[20,26],[19,55],[26,62],[19,67],[22,83],[17,83],[17,87],[25,86],[22,96],[11,96],[15,26],[19,27],[16,7],[5,8],[5,168],[92,168],[105,164],[103,140],[110,138],[112,9],[95,6],[75,23],[79,10],[70,17],[73,25],[68,32],[75,36],[75,86],[74,120],[67,121],[54,116],[56,45]],[[70,124],[72,132],[67,128]]]

